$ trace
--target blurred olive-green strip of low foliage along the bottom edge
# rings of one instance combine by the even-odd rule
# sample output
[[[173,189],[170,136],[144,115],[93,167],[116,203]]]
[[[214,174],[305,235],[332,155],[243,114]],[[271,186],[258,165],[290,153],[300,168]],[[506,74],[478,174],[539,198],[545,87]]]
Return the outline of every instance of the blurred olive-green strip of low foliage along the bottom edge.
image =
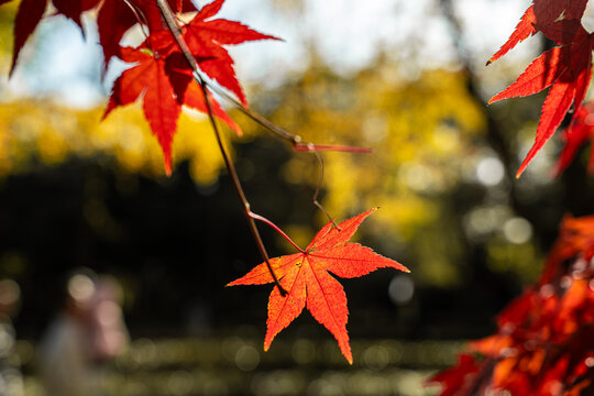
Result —
[[[461,345],[353,341],[355,363],[345,367],[334,345],[308,339],[279,340],[277,348],[263,353],[261,340],[244,333],[206,339],[142,338],[117,359],[102,385],[113,396],[421,396],[432,394],[422,381],[436,369],[452,364]],[[19,344],[25,364],[31,364],[32,351],[31,344]],[[33,376],[25,378],[25,392],[46,396]]]

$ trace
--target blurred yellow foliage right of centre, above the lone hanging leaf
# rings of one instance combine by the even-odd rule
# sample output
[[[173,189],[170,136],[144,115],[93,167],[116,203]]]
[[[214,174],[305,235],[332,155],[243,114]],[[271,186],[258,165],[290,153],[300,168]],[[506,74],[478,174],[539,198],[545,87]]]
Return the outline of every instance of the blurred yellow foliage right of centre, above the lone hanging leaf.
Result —
[[[283,89],[272,118],[305,141],[373,148],[323,154],[322,204],[337,218],[382,206],[375,221],[409,239],[440,216],[435,197],[460,182],[461,161],[485,120],[461,74],[427,70],[410,81],[384,78],[387,67],[351,79],[312,68]],[[319,174],[307,154],[282,172],[289,183],[312,185]]]

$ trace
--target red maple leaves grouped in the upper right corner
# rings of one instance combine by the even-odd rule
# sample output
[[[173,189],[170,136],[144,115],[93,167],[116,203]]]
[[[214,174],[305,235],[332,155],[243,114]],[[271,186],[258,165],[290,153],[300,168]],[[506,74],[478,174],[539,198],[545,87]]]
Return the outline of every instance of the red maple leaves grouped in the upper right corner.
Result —
[[[534,0],[512,36],[488,61],[497,61],[537,32],[559,45],[536,58],[514,84],[490,101],[525,97],[551,87],[542,106],[535,144],[517,176],[553,135],[572,105],[574,114],[581,111],[592,78],[594,44],[593,35],[586,32],[581,22],[586,4],[587,0]],[[573,134],[568,134],[568,138],[573,139]]]

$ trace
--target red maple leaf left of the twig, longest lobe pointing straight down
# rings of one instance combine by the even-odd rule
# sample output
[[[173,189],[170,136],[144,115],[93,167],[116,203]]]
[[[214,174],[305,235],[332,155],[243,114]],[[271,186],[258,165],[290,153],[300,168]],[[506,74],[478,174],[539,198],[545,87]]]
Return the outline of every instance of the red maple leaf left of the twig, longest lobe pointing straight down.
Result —
[[[152,45],[150,47],[148,45]],[[201,88],[196,81],[169,67],[168,59],[175,54],[173,36],[167,31],[153,33],[138,48],[120,48],[120,57],[135,66],[124,70],[113,84],[112,94],[103,119],[116,108],[143,100],[144,117],[163,150],[165,172],[172,172],[172,143],[177,129],[182,106],[208,112]],[[227,116],[217,101],[209,96],[212,112],[230,128],[240,128]]]

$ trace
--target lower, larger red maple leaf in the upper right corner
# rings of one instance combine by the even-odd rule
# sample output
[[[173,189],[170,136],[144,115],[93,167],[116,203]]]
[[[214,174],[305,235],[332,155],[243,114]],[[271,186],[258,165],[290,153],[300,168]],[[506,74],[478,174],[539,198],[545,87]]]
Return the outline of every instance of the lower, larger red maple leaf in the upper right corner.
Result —
[[[592,34],[579,20],[559,20],[537,28],[560,46],[540,55],[514,84],[490,100],[492,103],[524,97],[551,87],[542,106],[535,144],[521,163],[518,177],[552,136],[572,103],[575,111],[580,110],[592,77]]]

